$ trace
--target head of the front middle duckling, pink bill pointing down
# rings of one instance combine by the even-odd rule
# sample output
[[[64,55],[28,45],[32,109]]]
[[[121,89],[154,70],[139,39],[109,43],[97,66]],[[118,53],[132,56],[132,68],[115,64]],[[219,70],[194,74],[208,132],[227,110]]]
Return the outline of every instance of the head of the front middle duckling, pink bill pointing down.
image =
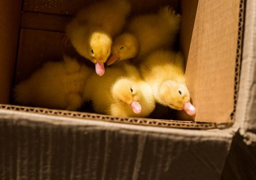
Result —
[[[141,113],[139,86],[129,79],[119,79],[113,85],[111,94],[116,103],[129,106],[135,114]]]

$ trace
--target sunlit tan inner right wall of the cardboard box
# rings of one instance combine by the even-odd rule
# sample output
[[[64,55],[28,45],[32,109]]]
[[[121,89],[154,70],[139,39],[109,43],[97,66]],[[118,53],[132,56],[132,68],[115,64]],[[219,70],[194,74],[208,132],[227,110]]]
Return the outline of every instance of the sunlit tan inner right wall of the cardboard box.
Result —
[[[230,122],[239,0],[199,1],[186,65],[196,120]]]

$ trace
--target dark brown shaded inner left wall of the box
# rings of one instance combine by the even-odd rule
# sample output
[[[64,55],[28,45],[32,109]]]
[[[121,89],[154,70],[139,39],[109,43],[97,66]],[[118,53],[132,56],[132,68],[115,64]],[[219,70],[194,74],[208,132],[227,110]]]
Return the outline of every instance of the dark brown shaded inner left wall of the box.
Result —
[[[0,1],[0,102],[9,102],[19,35],[21,1]]]

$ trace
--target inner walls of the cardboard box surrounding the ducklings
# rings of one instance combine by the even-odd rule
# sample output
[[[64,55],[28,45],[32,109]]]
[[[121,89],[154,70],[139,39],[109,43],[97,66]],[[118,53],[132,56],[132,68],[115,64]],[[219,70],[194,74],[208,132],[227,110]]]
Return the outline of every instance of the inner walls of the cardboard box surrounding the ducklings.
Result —
[[[2,107],[12,103],[13,85],[28,78],[45,61],[59,61],[63,52],[73,55],[72,47],[64,48],[61,44],[65,26],[79,8],[92,2],[0,2]],[[242,21],[239,19],[240,1],[131,2],[132,15],[154,12],[163,5],[171,5],[181,13],[178,44],[186,58],[187,86],[197,109],[193,119],[196,122],[231,123],[236,97],[234,89],[238,85],[235,84],[235,76],[238,76],[235,71],[237,51],[242,48],[237,46],[238,32],[241,30],[238,23]]]

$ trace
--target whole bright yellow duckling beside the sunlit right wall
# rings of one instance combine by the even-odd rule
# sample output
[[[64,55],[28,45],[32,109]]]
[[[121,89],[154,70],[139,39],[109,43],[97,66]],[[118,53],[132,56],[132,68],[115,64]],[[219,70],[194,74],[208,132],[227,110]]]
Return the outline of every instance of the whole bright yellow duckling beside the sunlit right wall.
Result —
[[[184,110],[190,116],[196,109],[189,102],[186,86],[184,59],[181,53],[168,50],[152,52],[140,65],[142,77],[148,82],[156,102],[171,109]]]

